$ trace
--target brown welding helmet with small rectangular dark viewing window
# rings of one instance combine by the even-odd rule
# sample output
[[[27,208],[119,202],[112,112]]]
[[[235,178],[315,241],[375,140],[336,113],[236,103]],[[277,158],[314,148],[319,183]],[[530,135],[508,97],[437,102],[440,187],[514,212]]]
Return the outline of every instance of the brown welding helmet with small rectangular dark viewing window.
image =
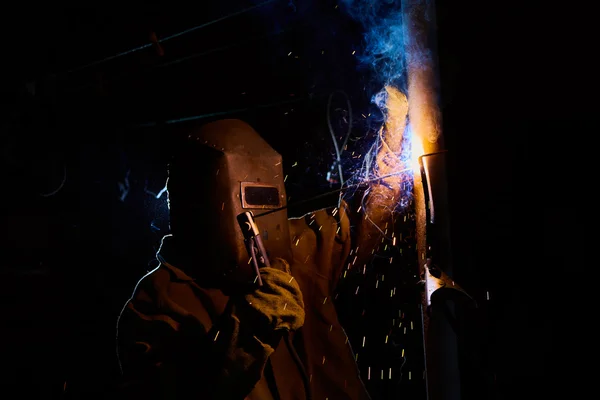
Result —
[[[236,119],[190,128],[183,139],[169,165],[167,190],[171,233],[189,260],[184,271],[225,284],[254,282],[238,219],[247,211],[268,257],[290,260],[281,155]]]

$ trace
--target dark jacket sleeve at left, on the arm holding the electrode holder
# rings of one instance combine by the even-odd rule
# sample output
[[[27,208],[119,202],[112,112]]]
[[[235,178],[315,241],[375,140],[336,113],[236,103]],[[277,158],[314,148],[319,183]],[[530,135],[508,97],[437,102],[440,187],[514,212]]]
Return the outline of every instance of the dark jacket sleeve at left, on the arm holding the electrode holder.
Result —
[[[138,283],[121,312],[120,398],[243,399],[261,378],[274,343],[249,332],[231,301],[207,323],[202,301],[196,297],[197,304],[184,308],[174,289],[169,271],[159,267]]]

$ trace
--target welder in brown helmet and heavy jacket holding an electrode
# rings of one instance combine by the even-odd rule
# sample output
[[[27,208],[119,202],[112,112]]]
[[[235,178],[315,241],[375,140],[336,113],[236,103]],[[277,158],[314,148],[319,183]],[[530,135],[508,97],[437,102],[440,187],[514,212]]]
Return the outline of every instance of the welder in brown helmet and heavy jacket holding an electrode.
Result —
[[[283,176],[243,121],[188,132],[169,164],[160,265],[118,321],[122,398],[370,398],[332,298],[357,247],[350,210],[289,219]],[[266,254],[249,252],[247,212]]]

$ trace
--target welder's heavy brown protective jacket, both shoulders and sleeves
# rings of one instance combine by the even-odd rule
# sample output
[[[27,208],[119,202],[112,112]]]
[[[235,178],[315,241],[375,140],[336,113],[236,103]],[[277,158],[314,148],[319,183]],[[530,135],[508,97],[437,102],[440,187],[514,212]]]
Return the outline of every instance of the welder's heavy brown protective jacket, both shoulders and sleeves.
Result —
[[[369,399],[332,301],[351,248],[346,207],[289,222],[305,306],[293,347],[256,337],[226,295],[164,258],[119,318],[123,398],[304,400],[303,369],[314,400]]]

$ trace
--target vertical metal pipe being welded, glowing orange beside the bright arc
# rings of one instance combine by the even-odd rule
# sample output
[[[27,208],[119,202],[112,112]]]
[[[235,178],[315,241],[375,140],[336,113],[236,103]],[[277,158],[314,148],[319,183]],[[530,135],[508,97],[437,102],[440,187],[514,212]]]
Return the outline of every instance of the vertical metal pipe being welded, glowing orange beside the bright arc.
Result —
[[[404,29],[404,53],[407,72],[408,116],[413,135],[413,149],[421,154],[444,150],[441,113],[439,108],[439,76],[436,59],[435,5],[433,0],[402,0],[402,23]],[[435,171],[435,198],[440,204],[448,203],[444,166]],[[417,170],[418,171],[418,170]],[[438,179],[440,178],[440,179]],[[427,272],[427,205],[421,175],[414,175],[414,200],[417,222],[417,252],[419,270],[425,277]],[[433,189],[432,189],[433,190]],[[430,193],[431,194],[431,193]],[[439,218],[439,214],[436,214]],[[446,216],[447,218],[447,216]],[[449,252],[449,229],[436,231],[440,268],[451,274]],[[427,293],[423,292],[423,310],[428,309]],[[425,343],[425,368],[427,398],[429,400],[460,400],[460,375],[458,365],[457,338],[448,320],[435,305],[431,313],[424,313],[423,335]]]

